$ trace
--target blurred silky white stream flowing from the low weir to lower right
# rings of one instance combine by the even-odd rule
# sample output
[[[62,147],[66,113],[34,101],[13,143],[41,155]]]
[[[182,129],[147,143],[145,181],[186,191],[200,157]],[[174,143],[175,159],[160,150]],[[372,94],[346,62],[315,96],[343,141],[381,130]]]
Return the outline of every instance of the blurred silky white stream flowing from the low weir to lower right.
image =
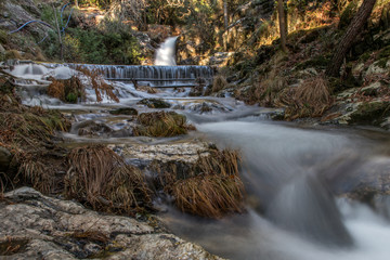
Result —
[[[93,65],[84,65],[93,66]],[[170,109],[185,114],[197,128],[190,136],[206,139],[219,147],[236,148],[243,156],[240,174],[247,191],[246,212],[207,220],[181,213],[169,205],[160,213],[177,235],[195,242],[211,253],[229,259],[389,259],[390,198],[376,195],[372,207],[342,196],[362,182],[389,186],[390,135],[376,129],[300,126],[270,119],[273,109],[246,106],[231,98],[190,98],[188,89],[161,89],[151,94],[133,83],[112,81],[120,103],[108,98],[96,103],[93,90],[80,104],[65,104],[46,95],[48,75],[67,78],[78,74],[73,65],[24,64],[12,74],[18,77],[26,105],[61,109],[73,116],[75,126],[92,120],[115,129],[117,134],[79,136],[65,133],[75,143],[170,143],[176,139],[127,136],[126,117],[108,109],[135,107],[144,98],[164,99]],[[104,66],[107,78],[209,78],[204,66]],[[141,70],[143,69],[144,73]],[[157,75],[157,76],[156,76]],[[86,79],[87,80],[87,79]],[[158,82],[147,82],[155,87]],[[161,82],[160,82],[161,83]],[[178,84],[183,83],[178,81]],[[209,107],[207,112],[204,106]],[[380,178],[376,178],[376,177]],[[382,181],[382,183],[378,183]],[[389,188],[388,188],[389,190]],[[374,207],[374,206],[375,207]]]

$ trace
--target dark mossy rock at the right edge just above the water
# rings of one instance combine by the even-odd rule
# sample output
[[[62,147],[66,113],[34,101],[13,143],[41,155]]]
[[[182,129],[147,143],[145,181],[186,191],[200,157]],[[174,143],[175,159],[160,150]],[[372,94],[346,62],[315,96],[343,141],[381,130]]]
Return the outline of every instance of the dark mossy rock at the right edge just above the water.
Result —
[[[350,125],[380,126],[390,116],[390,102],[363,103],[352,113]]]

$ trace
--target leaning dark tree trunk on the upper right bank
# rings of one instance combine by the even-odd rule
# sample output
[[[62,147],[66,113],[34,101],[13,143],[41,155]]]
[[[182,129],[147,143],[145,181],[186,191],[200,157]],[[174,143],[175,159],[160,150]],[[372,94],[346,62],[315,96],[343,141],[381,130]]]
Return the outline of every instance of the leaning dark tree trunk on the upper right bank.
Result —
[[[340,67],[342,62],[354,43],[354,40],[362,31],[365,23],[367,22],[376,0],[364,0],[358,13],[353,17],[351,24],[348,26],[346,34],[341,37],[335,54],[326,68],[326,75],[329,77],[338,77],[340,75]]]

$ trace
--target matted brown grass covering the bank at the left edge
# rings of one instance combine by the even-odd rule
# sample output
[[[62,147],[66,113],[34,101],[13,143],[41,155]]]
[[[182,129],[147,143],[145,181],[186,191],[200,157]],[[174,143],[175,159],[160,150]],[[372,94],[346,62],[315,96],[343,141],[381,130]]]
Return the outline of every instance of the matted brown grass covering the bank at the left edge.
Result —
[[[8,84],[9,81],[0,82],[0,144],[11,152],[13,159],[1,177],[2,190],[28,184],[42,193],[52,193],[61,183],[56,173],[64,171],[65,153],[53,138],[56,131],[67,131],[70,122],[60,112],[20,104],[13,91],[3,92]],[[12,89],[12,84],[9,87]]]

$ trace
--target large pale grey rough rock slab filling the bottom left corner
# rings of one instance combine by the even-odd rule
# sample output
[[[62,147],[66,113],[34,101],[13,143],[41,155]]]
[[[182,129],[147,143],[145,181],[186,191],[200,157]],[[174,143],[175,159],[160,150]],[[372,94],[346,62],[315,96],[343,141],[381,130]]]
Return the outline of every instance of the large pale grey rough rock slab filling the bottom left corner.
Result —
[[[5,259],[221,259],[147,222],[100,214],[29,187],[4,197],[0,256]]]

